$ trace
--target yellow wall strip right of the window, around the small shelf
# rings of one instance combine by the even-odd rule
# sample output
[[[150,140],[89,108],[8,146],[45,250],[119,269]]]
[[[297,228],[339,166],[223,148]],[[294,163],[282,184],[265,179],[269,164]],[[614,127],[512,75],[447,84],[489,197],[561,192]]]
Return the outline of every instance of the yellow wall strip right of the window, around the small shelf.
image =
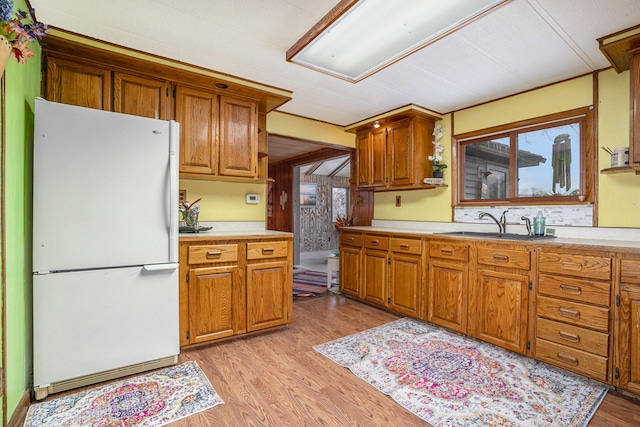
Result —
[[[629,72],[600,73],[598,139],[601,147],[629,145]],[[611,157],[598,150],[599,169],[611,166]],[[633,173],[599,175],[601,227],[640,227],[640,176]]]

